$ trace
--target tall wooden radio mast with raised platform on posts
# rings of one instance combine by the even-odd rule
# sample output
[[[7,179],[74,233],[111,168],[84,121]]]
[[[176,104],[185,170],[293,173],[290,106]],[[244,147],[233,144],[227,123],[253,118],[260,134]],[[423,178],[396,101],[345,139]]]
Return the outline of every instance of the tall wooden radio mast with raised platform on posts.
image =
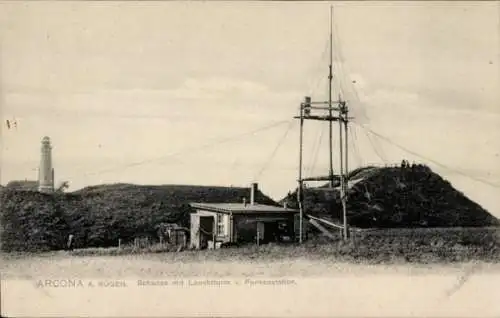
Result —
[[[304,120],[319,120],[328,121],[329,124],[329,174],[328,178],[320,177],[320,180],[327,179],[330,188],[333,188],[338,176],[333,173],[333,122],[339,122],[339,172],[340,172],[340,198],[342,201],[342,217],[343,217],[343,238],[349,237],[348,222],[347,222],[347,178],[348,173],[348,152],[347,152],[347,137],[348,137],[348,122],[351,117],[348,116],[348,108],[346,102],[342,100],[340,93],[336,101],[332,100],[332,82],[333,82],[333,6],[330,6],[330,63],[328,65],[328,101],[311,101],[311,97],[306,96],[300,104],[300,115],[294,118],[300,120],[300,140],[299,140],[299,178],[297,188],[297,200],[299,205],[300,221],[299,221],[299,242],[303,241],[303,217],[304,217],[304,181],[315,180],[318,178],[303,178],[302,176],[302,161],[303,161],[303,135],[304,135]],[[318,105],[318,106],[314,106]],[[336,106],[334,106],[336,105]],[[311,111],[327,111],[325,114],[312,114]],[[334,116],[333,112],[338,115]],[[345,134],[345,139],[344,135]]]

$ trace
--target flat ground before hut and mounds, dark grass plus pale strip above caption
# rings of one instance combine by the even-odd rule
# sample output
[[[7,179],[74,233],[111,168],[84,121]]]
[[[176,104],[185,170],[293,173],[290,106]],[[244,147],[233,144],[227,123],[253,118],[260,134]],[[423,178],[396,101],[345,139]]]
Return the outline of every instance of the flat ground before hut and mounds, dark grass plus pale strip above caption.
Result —
[[[349,242],[320,239],[303,245],[268,244],[218,250],[169,252],[94,248],[42,254],[4,254],[4,277],[79,276],[323,276],[460,268],[478,263],[500,270],[498,228],[373,230]]]

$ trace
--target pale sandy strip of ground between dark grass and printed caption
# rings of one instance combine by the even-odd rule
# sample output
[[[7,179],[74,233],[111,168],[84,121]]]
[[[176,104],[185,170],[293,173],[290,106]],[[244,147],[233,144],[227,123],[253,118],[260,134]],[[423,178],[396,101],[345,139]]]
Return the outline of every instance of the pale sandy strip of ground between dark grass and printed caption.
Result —
[[[3,258],[0,270],[4,278],[32,277],[333,277],[345,275],[428,275],[475,272],[500,273],[500,263],[457,263],[448,265],[360,265],[307,258],[277,261],[176,261],[169,255],[68,256],[47,255]]]

